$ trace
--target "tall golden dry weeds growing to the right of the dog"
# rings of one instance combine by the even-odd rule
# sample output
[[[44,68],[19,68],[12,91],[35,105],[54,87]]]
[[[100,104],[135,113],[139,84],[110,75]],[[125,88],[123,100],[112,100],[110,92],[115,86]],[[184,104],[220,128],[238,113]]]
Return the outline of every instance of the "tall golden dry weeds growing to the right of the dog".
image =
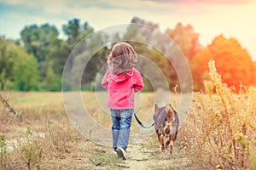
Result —
[[[212,81],[205,83],[207,95],[195,96],[183,144],[203,168],[255,168],[256,90],[233,94],[218,75],[215,62],[210,60],[208,66]]]

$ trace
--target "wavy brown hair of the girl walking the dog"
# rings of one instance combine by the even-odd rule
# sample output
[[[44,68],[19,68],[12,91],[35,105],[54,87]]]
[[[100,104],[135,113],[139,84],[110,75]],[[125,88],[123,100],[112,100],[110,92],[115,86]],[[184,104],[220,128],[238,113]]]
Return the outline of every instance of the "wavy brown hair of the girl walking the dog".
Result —
[[[113,74],[129,71],[137,63],[137,54],[127,42],[116,43],[108,55],[108,64],[113,66]]]

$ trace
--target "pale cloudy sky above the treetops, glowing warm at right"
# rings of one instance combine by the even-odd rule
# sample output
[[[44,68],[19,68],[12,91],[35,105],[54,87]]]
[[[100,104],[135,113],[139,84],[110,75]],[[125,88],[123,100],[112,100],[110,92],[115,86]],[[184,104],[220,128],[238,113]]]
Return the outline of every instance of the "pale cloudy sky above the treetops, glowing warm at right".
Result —
[[[158,24],[162,32],[178,22],[190,24],[203,46],[220,34],[234,37],[256,61],[256,0],[0,0],[0,35],[17,39],[25,26],[49,23],[61,37],[62,25],[73,18],[99,31],[135,16]]]

